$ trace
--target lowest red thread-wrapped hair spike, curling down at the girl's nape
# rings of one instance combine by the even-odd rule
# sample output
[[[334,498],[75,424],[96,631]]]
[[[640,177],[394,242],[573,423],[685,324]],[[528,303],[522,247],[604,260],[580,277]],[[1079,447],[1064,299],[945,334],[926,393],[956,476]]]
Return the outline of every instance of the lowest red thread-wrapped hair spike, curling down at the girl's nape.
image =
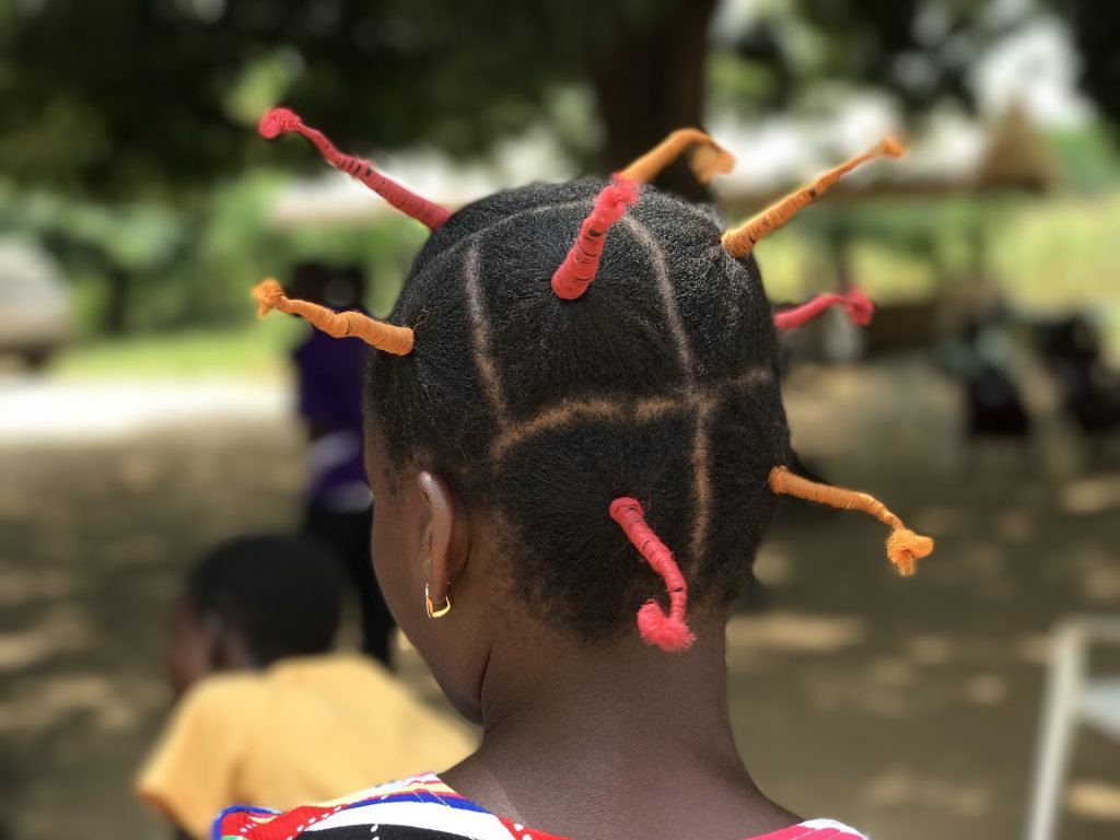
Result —
[[[681,569],[673,560],[672,552],[645,522],[645,512],[636,498],[623,496],[610,503],[610,519],[618,523],[634,548],[638,550],[650,568],[665,581],[669,592],[669,615],[661,610],[656,600],[650,599],[637,612],[637,628],[646,644],[657,645],[663,651],[680,653],[696,642],[689,625],[684,622],[684,610],[689,601],[689,589]]]

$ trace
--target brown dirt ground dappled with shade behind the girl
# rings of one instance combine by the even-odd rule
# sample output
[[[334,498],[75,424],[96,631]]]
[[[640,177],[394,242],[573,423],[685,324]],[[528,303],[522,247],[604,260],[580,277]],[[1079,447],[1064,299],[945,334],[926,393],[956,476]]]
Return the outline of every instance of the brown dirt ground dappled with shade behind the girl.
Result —
[[[881,526],[781,506],[764,590],[729,628],[748,766],[788,808],[876,840],[1020,837],[1047,633],[1068,613],[1120,614],[1120,472],[1045,475],[1021,454],[963,450],[954,392],[920,363],[804,370],[787,393],[802,455],[939,547],[903,580]],[[166,709],[169,606],[206,544],[290,528],[300,476],[281,410],[0,436],[8,840],[166,837],[128,788]],[[404,673],[430,691],[414,659]],[[1120,744],[1083,732],[1065,840],[1120,837],[1118,768]]]

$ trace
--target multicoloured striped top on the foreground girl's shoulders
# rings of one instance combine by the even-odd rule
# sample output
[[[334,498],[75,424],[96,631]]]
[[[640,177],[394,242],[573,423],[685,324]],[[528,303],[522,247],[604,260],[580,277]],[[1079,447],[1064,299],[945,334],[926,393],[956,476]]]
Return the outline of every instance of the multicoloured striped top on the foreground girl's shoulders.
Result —
[[[428,773],[287,813],[235,806],[214,840],[566,840],[492,814]],[[833,820],[809,820],[750,840],[866,840]]]

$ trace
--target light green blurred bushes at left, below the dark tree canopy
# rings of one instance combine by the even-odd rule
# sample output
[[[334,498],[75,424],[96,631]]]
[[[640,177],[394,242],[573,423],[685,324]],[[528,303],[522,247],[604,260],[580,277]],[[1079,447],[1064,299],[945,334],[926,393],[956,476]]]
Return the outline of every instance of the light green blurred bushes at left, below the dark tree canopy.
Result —
[[[0,228],[38,240],[62,260],[85,335],[101,332],[116,271],[129,278],[127,326],[137,333],[248,323],[252,284],[310,259],[363,267],[371,306],[388,311],[424,231],[395,214],[373,224],[277,227],[270,212],[286,183],[250,174],[216,188],[192,213],[9,190],[0,194]]]

